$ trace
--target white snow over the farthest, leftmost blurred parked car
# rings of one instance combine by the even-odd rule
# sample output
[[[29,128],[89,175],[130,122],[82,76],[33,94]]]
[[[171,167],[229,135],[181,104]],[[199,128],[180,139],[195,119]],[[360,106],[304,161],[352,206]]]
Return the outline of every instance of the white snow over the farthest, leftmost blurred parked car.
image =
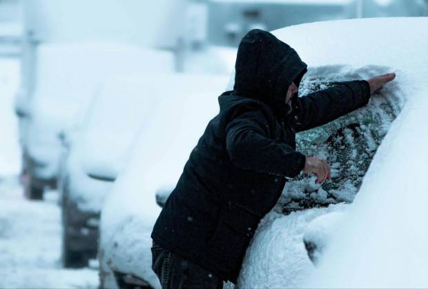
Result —
[[[110,42],[40,45],[37,81],[30,106],[32,120],[28,146],[31,156],[45,161],[50,159],[46,157],[51,155],[51,151],[46,152],[46,143],[52,144],[52,141],[46,138],[56,143],[56,136],[52,134],[70,125],[93,99],[97,85],[105,78],[173,70],[172,52]]]

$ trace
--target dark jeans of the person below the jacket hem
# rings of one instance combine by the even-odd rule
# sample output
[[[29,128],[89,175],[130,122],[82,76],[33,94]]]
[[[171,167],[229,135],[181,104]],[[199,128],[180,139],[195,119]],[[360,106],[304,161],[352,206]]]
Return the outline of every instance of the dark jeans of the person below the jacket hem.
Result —
[[[223,281],[211,272],[179,257],[153,242],[152,268],[162,288],[222,289]]]

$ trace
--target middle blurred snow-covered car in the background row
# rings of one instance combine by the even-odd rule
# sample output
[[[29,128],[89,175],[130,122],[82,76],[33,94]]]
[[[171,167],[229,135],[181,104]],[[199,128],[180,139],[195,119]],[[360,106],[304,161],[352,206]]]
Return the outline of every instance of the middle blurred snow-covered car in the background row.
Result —
[[[138,131],[154,125],[161,105],[222,86],[224,77],[189,74],[117,76],[102,85],[87,116],[64,140],[67,157],[59,182],[64,266],[87,266],[96,257],[99,212]],[[175,122],[172,115],[164,117]]]

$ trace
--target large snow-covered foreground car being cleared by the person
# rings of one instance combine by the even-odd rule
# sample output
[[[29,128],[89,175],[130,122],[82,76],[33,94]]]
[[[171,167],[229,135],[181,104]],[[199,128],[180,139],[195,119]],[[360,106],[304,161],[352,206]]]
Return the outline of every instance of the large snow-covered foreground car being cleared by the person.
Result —
[[[302,89],[326,78],[391,71],[397,78],[366,107],[298,135],[300,150],[327,158],[332,182],[320,187],[313,178],[298,178],[286,184],[246,251],[239,285],[427,287],[428,19],[327,21],[273,33],[313,67]],[[329,212],[343,213],[315,219]],[[309,241],[326,247],[311,256],[316,268],[303,236],[308,247]]]

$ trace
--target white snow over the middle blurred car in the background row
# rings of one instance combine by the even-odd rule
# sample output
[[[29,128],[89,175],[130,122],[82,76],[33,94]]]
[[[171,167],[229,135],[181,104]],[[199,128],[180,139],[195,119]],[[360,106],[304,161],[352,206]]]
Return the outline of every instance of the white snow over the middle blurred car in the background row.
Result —
[[[200,87],[221,87],[223,82],[224,77],[190,74],[134,74],[108,79],[93,104],[86,127],[86,172],[117,175],[137,132],[156,125],[150,118],[162,111],[163,105],[200,92]]]

